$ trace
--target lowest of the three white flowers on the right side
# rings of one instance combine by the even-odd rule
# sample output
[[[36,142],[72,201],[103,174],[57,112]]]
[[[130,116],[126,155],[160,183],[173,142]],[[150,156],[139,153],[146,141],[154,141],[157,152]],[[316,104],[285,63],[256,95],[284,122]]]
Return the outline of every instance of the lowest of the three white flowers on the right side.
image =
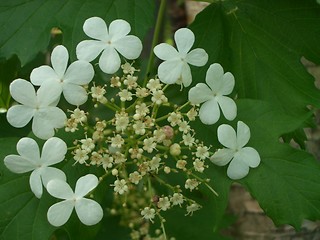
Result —
[[[255,168],[260,164],[259,153],[252,147],[244,147],[250,139],[249,127],[238,121],[237,133],[226,124],[218,127],[219,142],[227,148],[215,152],[211,161],[218,165],[228,166],[227,175],[231,179],[241,179],[249,173],[249,167]]]

